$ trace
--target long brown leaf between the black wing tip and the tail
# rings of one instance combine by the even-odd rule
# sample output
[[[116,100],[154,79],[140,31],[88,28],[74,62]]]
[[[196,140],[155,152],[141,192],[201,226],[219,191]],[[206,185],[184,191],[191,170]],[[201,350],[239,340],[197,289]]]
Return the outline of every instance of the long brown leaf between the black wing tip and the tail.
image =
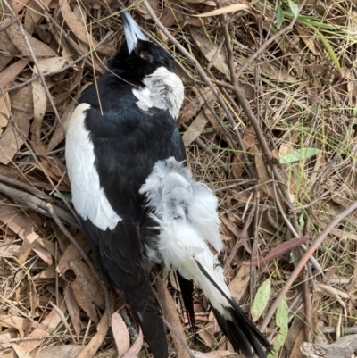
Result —
[[[162,303],[162,311],[164,316],[170,321],[171,326],[176,329],[179,335],[186,340],[185,330],[182,327],[181,320],[179,318],[179,313],[176,310],[176,304],[173,302],[172,296],[168,291],[166,285],[163,283],[162,278],[157,277],[156,279],[157,285],[157,293],[160,297],[160,302]],[[180,358],[189,358],[187,354],[187,350],[184,346],[182,346],[181,342],[179,341],[178,337],[175,335],[171,335],[173,344],[176,348],[177,354]]]

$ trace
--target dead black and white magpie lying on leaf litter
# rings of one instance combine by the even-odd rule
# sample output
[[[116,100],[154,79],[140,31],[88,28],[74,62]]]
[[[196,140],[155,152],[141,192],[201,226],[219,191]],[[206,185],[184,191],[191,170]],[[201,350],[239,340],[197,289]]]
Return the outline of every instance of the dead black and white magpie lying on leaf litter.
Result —
[[[210,249],[222,248],[218,200],[186,168],[175,123],[184,86],[173,58],[128,12],[121,19],[126,44],[83,91],[66,137],[72,201],[96,264],[125,292],[155,358],[168,348],[147,262],[177,272],[192,324],[194,281],[235,350],[265,358],[270,343],[230,296]]]

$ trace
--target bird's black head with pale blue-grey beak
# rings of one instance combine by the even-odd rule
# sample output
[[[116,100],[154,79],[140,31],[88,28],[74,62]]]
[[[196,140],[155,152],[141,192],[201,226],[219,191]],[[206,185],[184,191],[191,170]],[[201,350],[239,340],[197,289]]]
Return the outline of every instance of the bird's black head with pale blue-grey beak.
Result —
[[[110,69],[121,77],[141,81],[145,76],[152,74],[159,67],[170,72],[173,68],[173,57],[163,48],[146,41],[144,34],[129,12],[121,12],[126,41],[120,46],[118,53],[110,62]]]

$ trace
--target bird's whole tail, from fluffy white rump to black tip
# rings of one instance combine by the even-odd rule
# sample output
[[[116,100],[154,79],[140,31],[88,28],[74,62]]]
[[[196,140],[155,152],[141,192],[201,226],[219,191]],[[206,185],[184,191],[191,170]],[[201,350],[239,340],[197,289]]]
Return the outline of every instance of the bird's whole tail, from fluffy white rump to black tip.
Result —
[[[160,231],[157,249],[165,265],[193,279],[212,305],[220,329],[237,352],[253,351],[266,358],[270,343],[230,296],[223,269],[207,242],[220,251],[217,199],[211,190],[192,179],[182,162],[157,162],[141,193],[148,199]]]

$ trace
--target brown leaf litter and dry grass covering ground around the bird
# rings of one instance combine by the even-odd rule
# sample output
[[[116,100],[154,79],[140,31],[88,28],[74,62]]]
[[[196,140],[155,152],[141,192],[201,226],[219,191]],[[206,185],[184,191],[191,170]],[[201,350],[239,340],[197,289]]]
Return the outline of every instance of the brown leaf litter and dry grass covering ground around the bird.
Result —
[[[271,356],[299,358],[303,349],[305,354],[319,350],[315,336],[311,338],[315,331],[324,349],[332,349],[338,337],[348,337],[355,326],[356,215],[345,216],[357,190],[355,4],[306,1],[295,22],[299,5],[290,0],[278,7],[270,0],[219,6],[209,0],[149,4],[179,46],[189,51],[187,57],[170,37],[162,36],[143,4],[126,4],[133,5],[138,23],[165,41],[178,60],[186,85],[178,124],[190,169],[220,200],[225,243],[220,260],[232,296],[247,314],[251,307],[255,323],[266,328],[264,333],[275,346]],[[24,34],[45,82],[37,76]],[[46,201],[51,201],[66,229],[90,254],[71,205],[62,200],[70,193],[63,129],[81,90],[103,74],[122,38],[116,4],[109,0],[4,2],[0,21],[0,173],[6,178],[0,176],[0,355],[4,357],[93,357],[112,354],[113,342],[122,357],[149,356],[141,330],[129,328],[135,319],[120,318],[122,294],[111,291],[116,313],[109,320],[100,284],[46,210]],[[194,61],[207,78],[199,76]],[[251,112],[236,86],[243,88]],[[236,123],[229,121],[229,115]],[[330,228],[336,217],[341,220]],[[325,239],[319,249],[285,298],[276,301],[303,252],[321,232]],[[194,296],[195,339],[175,280],[167,271],[154,273],[166,318],[195,356],[237,356],[229,351],[231,346],[199,288]],[[115,327],[113,337],[109,321]],[[171,355],[184,356],[174,335],[168,335]]]

